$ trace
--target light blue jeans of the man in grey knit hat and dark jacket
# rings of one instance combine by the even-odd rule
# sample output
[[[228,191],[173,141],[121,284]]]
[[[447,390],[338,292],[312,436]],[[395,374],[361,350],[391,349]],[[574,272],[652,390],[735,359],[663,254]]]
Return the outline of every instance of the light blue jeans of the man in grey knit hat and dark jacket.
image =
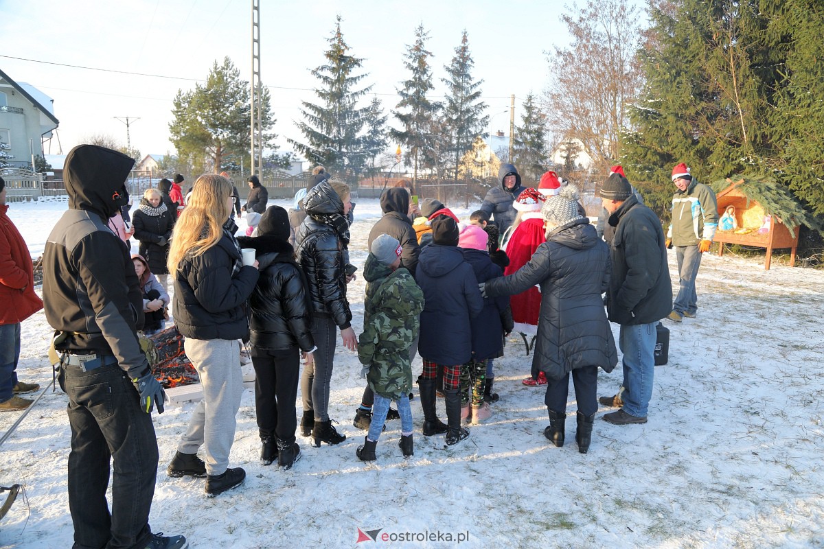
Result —
[[[626,390],[624,412],[636,417],[646,417],[649,399],[653,396],[653,374],[655,372],[655,325],[621,324],[619,345],[624,353],[624,383]]]

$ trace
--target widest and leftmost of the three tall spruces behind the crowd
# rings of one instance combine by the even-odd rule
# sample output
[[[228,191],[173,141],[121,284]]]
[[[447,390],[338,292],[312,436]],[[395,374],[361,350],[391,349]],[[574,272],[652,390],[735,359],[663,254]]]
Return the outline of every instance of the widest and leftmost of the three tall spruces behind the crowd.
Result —
[[[352,179],[365,165],[361,131],[368,119],[370,105],[358,107],[358,100],[372,89],[355,86],[368,74],[355,74],[362,68],[363,59],[350,53],[340,30],[338,16],[335,30],[327,40],[326,64],[311,70],[320,82],[315,93],[319,103],[302,101],[304,121],[297,122],[306,142],[287,141],[312,164],[325,165],[330,171],[339,171]]]

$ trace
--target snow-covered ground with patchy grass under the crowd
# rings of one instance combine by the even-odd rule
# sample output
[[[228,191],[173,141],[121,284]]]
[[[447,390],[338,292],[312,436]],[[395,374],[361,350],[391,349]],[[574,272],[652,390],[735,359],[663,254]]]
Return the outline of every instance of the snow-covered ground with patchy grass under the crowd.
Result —
[[[9,214],[35,257],[64,208],[12,204]],[[351,256],[362,266],[380,208],[361,200],[355,212]],[[671,272],[674,261],[671,253]],[[203,480],[166,477],[193,405],[169,407],[155,416],[161,461],[152,528],[183,533],[191,547],[236,549],[356,547],[358,528],[382,530],[377,542],[357,547],[454,547],[466,533],[461,547],[824,547],[822,286],[822,271],[765,272],[758,258],[705,255],[699,317],[667,321],[670,361],[656,368],[649,422],[611,426],[599,417],[586,455],[574,444],[574,394],[568,444],[545,440],[543,391],[521,384],[529,360],[514,338],[495,361],[501,401],[493,420],[444,449],[442,435],[419,435],[416,398],[415,453],[406,461],[397,421],[377,446],[377,463],[355,457],[364,432],[351,422],[363,380],[357,357],[343,347],[330,416],[349,438],[320,449],[298,438],[303,458],[292,471],[258,463],[254,395],[246,390],[231,458],[246,468],[246,484],[212,500]],[[358,329],[360,278],[349,295]],[[44,315],[22,330],[21,379],[47,384]],[[420,359],[413,367],[420,370]],[[620,367],[599,382],[599,394],[615,393]],[[24,484],[28,507],[19,498],[0,523],[0,547],[73,542],[65,402],[63,393],[47,392],[2,445],[0,485]],[[445,419],[442,402],[438,409]],[[16,418],[2,414],[0,434]],[[418,541],[424,533],[430,541]],[[453,541],[438,541],[438,533]],[[401,541],[382,541],[384,534]]]

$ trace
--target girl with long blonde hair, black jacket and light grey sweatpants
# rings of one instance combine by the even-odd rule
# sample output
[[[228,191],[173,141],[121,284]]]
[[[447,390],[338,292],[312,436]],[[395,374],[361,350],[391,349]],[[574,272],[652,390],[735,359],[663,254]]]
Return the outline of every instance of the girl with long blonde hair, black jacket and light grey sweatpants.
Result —
[[[238,340],[249,336],[244,305],[255,289],[258,263],[242,263],[230,217],[234,199],[228,179],[201,175],[172,232],[168,263],[175,281],[175,324],[186,338],[186,356],[198,370],[204,398],[167,472],[206,477],[209,497],[240,486],[246,477],[228,463],[243,393]],[[197,455],[200,446],[205,463]]]

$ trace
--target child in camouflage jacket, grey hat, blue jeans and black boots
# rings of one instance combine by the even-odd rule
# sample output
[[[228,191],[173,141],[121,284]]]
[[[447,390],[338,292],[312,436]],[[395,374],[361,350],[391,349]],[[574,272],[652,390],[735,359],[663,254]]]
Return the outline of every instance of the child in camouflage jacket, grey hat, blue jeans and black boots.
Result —
[[[381,436],[391,401],[398,402],[400,412],[400,450],[408,458],[414,453],[410,347],[418,335],[418,315],[424,309],[424,293],[409,271],[400,267],[400,242],[390,235],[372,240],[365,271],[377,273],[371,284],[377,290],[364,303],[363,333],[358,341],[358,359],[363,373],[375,393],[372,422],[358,458],[374,461],[375,446]],[[383,279],[380,280],[380,274]]]

